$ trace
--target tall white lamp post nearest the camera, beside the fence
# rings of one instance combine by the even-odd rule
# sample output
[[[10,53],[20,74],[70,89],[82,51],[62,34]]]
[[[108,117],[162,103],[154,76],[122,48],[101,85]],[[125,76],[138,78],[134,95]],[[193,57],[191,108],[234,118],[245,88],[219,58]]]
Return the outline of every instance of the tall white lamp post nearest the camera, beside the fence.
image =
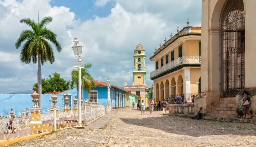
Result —
[[[78,56],[78,65],[79,66],[74,66],[75,68],[79,69],[79,75],[78,75],[78,126],[82,126],[82,113],[81,113],[81,85],[82,85],[82,81],[81,81],[81,69],[85,69],[84,67],[82,67],[82,60],[81,60],[81,55],[83,52],[83,46],[78,43],[80,40],[78,40],[77,38],[75,38],[74,45],[72,46],[74,55]]]

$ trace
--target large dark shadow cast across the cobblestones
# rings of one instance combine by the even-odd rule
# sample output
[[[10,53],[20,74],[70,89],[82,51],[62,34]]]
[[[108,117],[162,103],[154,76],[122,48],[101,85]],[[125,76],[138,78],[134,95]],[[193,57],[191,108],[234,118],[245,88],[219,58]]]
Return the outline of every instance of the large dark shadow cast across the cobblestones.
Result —
[[[255,124],[219,122],[203,119],[192,120],[190,118],[179,116],[152,116],[120,119],[128,125],[137,125],[153,129],[159,129],[167,133],[174,133],[179,135],[207,136],[231,134],[256,136]],[[153,132],[154,130],[152,130],[152,133]]]

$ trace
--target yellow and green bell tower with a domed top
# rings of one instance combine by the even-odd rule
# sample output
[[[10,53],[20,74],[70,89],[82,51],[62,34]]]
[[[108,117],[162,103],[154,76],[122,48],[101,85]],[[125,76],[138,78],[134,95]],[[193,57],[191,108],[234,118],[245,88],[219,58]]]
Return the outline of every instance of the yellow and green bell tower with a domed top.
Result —
[[[133,85],[145,86],[146,85],[146,66],[145,66],[145,50],[141,44],[138,44],[134,50],[134,71],[133,73]]]

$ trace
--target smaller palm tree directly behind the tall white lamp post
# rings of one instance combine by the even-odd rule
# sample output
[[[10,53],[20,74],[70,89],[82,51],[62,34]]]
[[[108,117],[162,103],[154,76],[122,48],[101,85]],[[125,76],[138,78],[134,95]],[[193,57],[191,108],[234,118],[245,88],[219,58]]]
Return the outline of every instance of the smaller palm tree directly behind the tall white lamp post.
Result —
[[[92,67],[91,63],[87,63],[83,66],[86,69],[81,69],[81,79],[82,79],[82,85],[81,85],[81,89],[82,89],[82,98],[84,98],[84,90],[85,89],[88,93],[91,92],[92,88],[91,87],[95,87],[95,83],[93,81],[93,77],[89,72],[89,68]],[[78,69],[73,69],[71,71],[71,84],[70,87],[74,88],[74,87],[78,87],[78,75],[79,75],[79,70]]]

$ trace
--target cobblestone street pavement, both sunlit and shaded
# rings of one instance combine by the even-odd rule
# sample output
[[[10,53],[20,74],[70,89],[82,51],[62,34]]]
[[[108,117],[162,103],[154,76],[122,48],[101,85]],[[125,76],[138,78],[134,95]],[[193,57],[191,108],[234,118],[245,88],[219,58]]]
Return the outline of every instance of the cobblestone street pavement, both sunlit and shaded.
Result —
[[[100,129],[66,129],[11,146],[256,146],[256,126],[121,108]]]

